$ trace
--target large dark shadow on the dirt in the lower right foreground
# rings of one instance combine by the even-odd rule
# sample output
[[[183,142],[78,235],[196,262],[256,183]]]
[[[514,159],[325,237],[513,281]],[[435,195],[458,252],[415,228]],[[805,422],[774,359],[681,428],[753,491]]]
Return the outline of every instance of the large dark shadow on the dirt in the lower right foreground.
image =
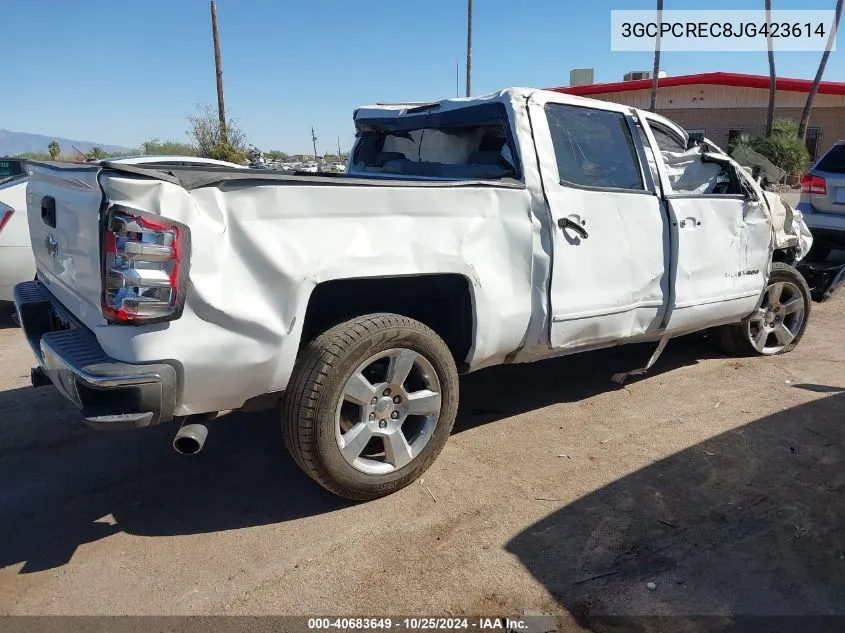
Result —
[[[841,386],[800,387],[837,395],[615,481],[507,549],[594,631],[736,627],[619,617],[637,614],[736,614],[739,622],[743,614],[845,615],[845,394]],[[842,630],[843,621],[749,620],[739,628]]]

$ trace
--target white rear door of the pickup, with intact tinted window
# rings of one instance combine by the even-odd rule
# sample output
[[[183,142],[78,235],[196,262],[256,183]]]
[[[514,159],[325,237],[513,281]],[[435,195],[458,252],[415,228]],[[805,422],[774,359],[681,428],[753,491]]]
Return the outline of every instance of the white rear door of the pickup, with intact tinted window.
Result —
[[[576,102],[577,103],[577,102]],[[627,109],[535,102],[532,124],[553,219],[551,344],[611,345],[660,329],[667,219]]]

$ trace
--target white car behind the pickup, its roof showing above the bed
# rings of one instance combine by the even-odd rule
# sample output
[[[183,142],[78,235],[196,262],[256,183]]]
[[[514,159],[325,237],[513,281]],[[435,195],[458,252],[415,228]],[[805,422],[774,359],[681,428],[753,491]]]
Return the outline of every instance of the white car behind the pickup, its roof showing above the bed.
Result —
[[[120,165],[157,165],[190,167],[191,165],[246,169],[212,158],[196,156],[126,156],[93,161]],[[29,242],[26,222],[26,161],[0,158],[0,302],[12,301],[15,284],[35,278],[35,259]]]

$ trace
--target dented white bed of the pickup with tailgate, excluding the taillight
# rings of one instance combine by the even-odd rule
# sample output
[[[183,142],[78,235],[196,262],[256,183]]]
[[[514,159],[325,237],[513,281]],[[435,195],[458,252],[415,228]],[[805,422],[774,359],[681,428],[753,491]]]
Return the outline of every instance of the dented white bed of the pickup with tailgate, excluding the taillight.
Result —
[[[204,410],[237,408],[284,389],[309,297],[332,280],[464,278],[474,308],[495,315],[480,321],[496,324],[476,333],[471,369],[519,349],[532,315],[545,315],[545,287],[534,279],[545,275],[537,261],[548,258],[533,215],[542,209],[522,183],[108,161],[33,170],[28,214],[39,279],[109,357],[157,363],[178,350],[184,385],[177,415],[198,412],[200,402]],[[55,200],[52,228],[43,221],[45,198]],[[109,325],[101,309],[101,219],[112,207],[189,229],[179,318]]]

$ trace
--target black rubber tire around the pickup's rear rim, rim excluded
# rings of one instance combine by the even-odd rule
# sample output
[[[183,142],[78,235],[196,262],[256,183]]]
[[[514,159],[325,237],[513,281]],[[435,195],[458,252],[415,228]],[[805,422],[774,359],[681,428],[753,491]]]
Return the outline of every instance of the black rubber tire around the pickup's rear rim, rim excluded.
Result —
[[[440,416],[428,443],[410,463],[385,474],[353,468],[335,436],[337,407],[350,375],[368,358],[393,348],[423,356],[440,381]],[[417,479],[440,453],[458,411],[458,372],[449,348],[429,327],[398,314],[369,314],[346,321],[310,341],[293,369],[282,410],[285,444],[318,484],[346,499],[366,501]]]

